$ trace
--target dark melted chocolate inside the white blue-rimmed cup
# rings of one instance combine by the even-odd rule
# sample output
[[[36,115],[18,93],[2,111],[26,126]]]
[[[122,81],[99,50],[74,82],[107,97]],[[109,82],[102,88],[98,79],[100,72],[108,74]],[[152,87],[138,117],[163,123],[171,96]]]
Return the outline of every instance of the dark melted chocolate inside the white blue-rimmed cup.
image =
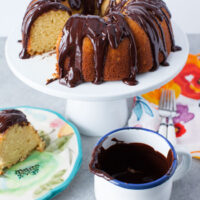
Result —
[[[117,179],[125,183],[152,182],[170,175],[173,153],[167,157],[143,143],[124,143],[116,138],[114,145],[105,149],[102,143],[93,152],[90,171],[106,180]]]

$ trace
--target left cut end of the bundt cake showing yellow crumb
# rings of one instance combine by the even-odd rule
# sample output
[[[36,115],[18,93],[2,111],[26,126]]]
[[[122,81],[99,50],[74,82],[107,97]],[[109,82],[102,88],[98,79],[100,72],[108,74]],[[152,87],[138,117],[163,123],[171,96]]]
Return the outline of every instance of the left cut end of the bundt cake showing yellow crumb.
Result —
[[[20,58],[52,51],[58,35],[71,15],[65,0],[32,0],[22,23]]]

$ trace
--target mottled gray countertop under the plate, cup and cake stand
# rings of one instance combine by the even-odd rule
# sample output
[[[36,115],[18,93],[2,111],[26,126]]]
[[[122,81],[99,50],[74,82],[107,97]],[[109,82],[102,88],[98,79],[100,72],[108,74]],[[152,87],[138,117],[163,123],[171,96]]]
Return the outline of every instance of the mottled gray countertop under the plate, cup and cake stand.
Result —
[[[9,70],[4,55],[5,38],[0,38],[0,107],[29,105],[55,110],[64,115],[65,100],[40,93],[18,80]],[[200,52],[200,35],[189,35],[190,52]],[[93,175],[88,163],[98,138],[82,136],[83,163],[77,176],[54,200],[94,200]],[[174,183],[171,200],[200,199],[200,161],[193,160],[190,172]]]

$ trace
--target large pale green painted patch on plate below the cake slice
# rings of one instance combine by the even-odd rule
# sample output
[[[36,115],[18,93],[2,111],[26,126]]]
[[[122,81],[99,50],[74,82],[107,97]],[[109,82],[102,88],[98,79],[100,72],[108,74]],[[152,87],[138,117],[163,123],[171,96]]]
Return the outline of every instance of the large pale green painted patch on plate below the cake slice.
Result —
[[[31,173],[32,170],[30,171],[34,166],[39,166],[36,174]],[[26,160],[19,162],[5,172],[4,177],[6,178],[2,178],[0,181],[4,183],[4,188],[0,187],[0,194],[16,193],[22,195],[41,181],[44,182],[48,179],[49,174],[54,174],[57,168],[58,161],[54,154],[34,151]],[[21,172],[20,176],[17,173],[19,171]]]

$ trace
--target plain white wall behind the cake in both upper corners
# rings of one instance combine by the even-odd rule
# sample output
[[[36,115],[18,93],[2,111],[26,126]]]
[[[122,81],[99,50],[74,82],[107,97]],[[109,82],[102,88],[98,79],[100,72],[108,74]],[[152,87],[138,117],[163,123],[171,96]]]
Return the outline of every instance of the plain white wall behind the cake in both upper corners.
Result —
[[[165,0],[173,19],[186,33],[200,33],[200,0]],[[30,0],[0,0],[0,37],[21,23]]]

